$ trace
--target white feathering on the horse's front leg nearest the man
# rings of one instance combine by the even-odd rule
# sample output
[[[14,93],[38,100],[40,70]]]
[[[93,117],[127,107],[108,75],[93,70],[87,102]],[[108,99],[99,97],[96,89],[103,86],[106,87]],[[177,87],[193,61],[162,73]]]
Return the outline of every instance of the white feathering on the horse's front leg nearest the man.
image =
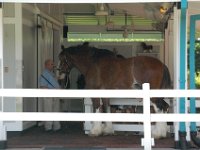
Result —
[[[99,108],[96,109],[96,113],[99,113]],[[99,136],[102,134],[102,122],[101,121],[94,121],[92,129],[90,130],[89,136]]]

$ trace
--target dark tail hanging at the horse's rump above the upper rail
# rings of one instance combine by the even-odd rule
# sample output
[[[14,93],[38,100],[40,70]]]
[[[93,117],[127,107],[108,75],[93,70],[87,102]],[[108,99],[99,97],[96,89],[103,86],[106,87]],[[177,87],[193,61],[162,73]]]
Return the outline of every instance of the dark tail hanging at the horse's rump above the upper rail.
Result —
[[[163,77],[161,82],[161,89],[171,89],[171,77],[169,69],[166,65],[163,65]]]

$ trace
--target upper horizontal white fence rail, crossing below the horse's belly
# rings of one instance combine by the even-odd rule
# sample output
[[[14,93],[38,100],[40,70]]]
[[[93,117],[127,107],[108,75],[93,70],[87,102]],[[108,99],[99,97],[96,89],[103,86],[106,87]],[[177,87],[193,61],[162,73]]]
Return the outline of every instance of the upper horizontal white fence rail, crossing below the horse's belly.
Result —
[[[0,89],[4,97],[143,98],[144,90]],[[150,97],[200,97],[199,90],[150,90]]]

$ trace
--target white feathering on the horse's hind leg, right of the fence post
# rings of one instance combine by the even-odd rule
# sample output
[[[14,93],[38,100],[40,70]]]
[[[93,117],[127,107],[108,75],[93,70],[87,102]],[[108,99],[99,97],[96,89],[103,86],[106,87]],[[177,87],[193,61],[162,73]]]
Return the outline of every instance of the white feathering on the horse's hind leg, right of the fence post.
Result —
[[[154,103],[152,103],[152,105],[156,113],[163,113],[163,111],[159,110]],[[155,125],[151,127],[151,134],[155,139],[166,138],[167,131],[168,127],[166,122],[156,122]]]

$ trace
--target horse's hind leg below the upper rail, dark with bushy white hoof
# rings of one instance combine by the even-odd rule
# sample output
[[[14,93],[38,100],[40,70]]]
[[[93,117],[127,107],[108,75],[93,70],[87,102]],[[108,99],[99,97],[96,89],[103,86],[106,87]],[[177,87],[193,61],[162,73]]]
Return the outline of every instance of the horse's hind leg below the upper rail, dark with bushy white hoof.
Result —
[[[169,107],[169,105],[163,99],[153,100],[152,106],[155,113],[167,113]],[[151,134],[155,139],[166,138],[167,132],[167,122],[156,122],[151,128]]]

